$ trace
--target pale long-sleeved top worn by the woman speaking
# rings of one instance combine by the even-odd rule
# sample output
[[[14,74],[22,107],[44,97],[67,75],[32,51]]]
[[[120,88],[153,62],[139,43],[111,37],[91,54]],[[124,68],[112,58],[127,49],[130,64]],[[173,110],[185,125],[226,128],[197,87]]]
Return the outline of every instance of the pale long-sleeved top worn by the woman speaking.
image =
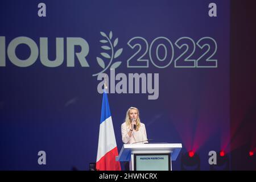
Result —
[[[126,144],[132,144],[135,142],[138,142],[138,144],[142,143],[148,143],[147,141],[142,142],[144,140],[147,140],[147,133],[146,133],[146,127],[143,123],[141,123],[141,127],[139,127],[138,131],[133,130],[131,133],[131,137],[129,137],[128,132],[130,131],[130,127],[126,126],[126,123],[122,123],[121,125],[121,131],[122,131],[122,140],[123,143]]]

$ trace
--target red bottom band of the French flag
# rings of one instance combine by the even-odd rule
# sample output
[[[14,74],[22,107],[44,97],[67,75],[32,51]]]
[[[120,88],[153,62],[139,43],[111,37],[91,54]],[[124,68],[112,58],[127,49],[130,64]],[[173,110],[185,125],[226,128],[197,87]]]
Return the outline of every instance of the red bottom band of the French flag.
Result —
[[[97,163],[96,170],[98,171],[121,171],[121,166],[118,161],[115,161],[115,156],[118,156],[117,147],[107,152]]]

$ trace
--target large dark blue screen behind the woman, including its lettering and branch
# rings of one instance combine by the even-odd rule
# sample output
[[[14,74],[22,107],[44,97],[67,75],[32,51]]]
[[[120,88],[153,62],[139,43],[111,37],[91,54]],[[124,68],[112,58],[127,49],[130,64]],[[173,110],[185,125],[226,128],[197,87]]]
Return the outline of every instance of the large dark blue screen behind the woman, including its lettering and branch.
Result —
[[[1,1],[0,15],[0,169],[88,170],[104,82],[118,151],[130,106],[201,169],[228,151],[229,1]]]

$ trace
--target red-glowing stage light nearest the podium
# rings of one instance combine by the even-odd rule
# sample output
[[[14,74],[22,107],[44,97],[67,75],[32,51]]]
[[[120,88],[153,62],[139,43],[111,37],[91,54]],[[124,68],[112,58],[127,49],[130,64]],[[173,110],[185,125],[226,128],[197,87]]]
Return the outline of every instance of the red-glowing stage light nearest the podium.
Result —
[[[194,151],[186,152],[181,156],[181,170],[183,171],[199,171],[200,158]]]

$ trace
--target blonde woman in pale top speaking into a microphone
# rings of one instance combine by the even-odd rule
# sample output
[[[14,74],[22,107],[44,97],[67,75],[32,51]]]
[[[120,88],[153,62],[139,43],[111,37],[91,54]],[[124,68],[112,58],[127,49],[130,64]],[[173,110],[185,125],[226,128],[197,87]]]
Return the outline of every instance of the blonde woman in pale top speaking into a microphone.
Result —
[[[148,143],[146,127],[139,119],[139,110],[130,107],[126,112],[125,122],[121,125],[123,143]]]

